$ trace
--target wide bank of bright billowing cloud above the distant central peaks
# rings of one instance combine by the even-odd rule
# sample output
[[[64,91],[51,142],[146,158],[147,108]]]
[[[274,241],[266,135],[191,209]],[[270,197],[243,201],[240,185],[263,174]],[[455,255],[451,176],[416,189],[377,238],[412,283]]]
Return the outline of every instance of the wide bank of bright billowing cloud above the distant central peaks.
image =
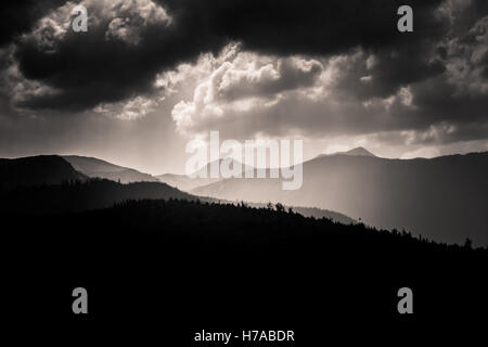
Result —
[[[320,61],[239,52],[211,64],[194,87],[193,99],[175,105],[172,118],[185,136],[220,130],[235,138],[319,138],[370,133],[388,123],[395,128],[398,121],[391,115],[414,108],[408,87],[364,102],[341,85],[343,77],[358,74],[358,65],[365,69],[371,61],[360,50]]]

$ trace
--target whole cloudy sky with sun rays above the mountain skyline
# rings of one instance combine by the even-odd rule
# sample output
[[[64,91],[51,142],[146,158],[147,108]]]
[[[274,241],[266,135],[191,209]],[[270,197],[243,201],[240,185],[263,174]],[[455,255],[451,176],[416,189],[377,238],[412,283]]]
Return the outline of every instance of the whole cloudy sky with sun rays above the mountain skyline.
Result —
[[[88,12],[87,33],[72,10]],[[413,9],[413,33],[397,9]],[[192,139],[305,158],[488,151],[486,0],[2,1],[0,156],[182,172]]]

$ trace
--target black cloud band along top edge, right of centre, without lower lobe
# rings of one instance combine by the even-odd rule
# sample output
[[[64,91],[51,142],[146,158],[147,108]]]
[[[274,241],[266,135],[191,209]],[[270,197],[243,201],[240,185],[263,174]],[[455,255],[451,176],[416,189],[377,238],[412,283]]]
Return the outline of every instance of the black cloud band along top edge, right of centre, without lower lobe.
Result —
[[[441,0],[412,0],[415,35],[397,29],[397,9],[403,0],[166,0],[183,26],[231,40],[245,49],[288,54],[334,54],[354,47],[380,49],[444,33],[433,11]],[[193,28],[193,29],[192,29]]]

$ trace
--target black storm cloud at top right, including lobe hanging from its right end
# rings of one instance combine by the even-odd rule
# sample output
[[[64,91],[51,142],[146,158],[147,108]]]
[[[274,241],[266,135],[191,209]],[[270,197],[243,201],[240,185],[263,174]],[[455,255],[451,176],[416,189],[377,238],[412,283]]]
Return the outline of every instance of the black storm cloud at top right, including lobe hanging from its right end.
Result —
[[[166,1],[190,30],[243,42],[243,48],[267,54],[329,56],[361,48],[377,53],[375,80],[363,98],[387,97],[402,86],[442,73],[438,60],[424,53],[449,31],[436,11],[441,0],[408,1],[414,9],[414,33],[397,30],[397,9],[403,0],[380,1]],[[193,21],[198,18],[198,21]],[[422,52],[422,53],[421,53]],[[347,81],[345,81],[347,82]],[[357,85],[357,80],[354,81]]]

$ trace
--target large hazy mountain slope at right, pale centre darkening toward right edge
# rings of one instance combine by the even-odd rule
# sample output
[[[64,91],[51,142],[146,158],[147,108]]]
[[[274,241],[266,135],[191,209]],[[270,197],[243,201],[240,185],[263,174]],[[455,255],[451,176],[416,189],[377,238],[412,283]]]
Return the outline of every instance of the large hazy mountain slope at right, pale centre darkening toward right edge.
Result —
[[[329,155],[304,164],[297,191],[282,191],[275,179],[229,179],[192,193],[316,206],[437,241],[488,244],[488,153],[408,160]]]

